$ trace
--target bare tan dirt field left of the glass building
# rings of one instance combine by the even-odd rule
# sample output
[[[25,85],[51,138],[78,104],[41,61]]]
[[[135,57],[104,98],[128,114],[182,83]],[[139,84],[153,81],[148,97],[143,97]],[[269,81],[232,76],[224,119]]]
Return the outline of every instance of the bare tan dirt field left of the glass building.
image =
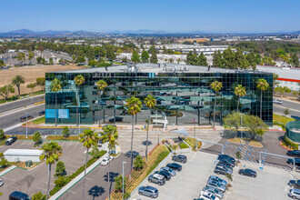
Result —
[[[77,65],[45,65],[45,66],[25,66],[19,68],[11,68],[0,71],[0,87],[8,85],[12,82],[15,75],[23,75],[25,84],[21,85],[21,95],[31,93],[31,89],[27,88],[27,84],[35,83],[36,78],[45,77],[46,72],[57,72],[65,70],[84,69],[85,66]],[[36,86],[34,91],[41,90],[40,86]]]

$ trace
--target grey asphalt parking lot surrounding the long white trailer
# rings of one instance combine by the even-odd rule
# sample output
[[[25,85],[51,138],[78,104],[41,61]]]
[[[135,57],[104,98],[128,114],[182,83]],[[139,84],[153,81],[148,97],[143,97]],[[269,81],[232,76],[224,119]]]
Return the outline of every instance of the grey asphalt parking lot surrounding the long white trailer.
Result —
[[[62,145],[63,148],[63,155],[59,159],[65,163],[67,175],[72,175],[81,165],[84,165],[85,147],[78,142],[58,142],[58,144]],[[13,145],[1,146],[0,152],[5,152],[5,150],[8,148],[33,149],[33,146],[33,141],[17,140]],[[28,195],[34,195],[39,191],[42,191],[43,194],[46,194],[48,181],[47,169],[47,165],[43,163],[31,170],[15,168],[7,174],[2,175],[0,178],[3,180],[5,185],[0,188],[0,192],[3,193],[1,198],[8,199],[8,195],[15,190],[24,192]],[[52,165],[51,188],[54,186],[54,174],[55,165]]]

